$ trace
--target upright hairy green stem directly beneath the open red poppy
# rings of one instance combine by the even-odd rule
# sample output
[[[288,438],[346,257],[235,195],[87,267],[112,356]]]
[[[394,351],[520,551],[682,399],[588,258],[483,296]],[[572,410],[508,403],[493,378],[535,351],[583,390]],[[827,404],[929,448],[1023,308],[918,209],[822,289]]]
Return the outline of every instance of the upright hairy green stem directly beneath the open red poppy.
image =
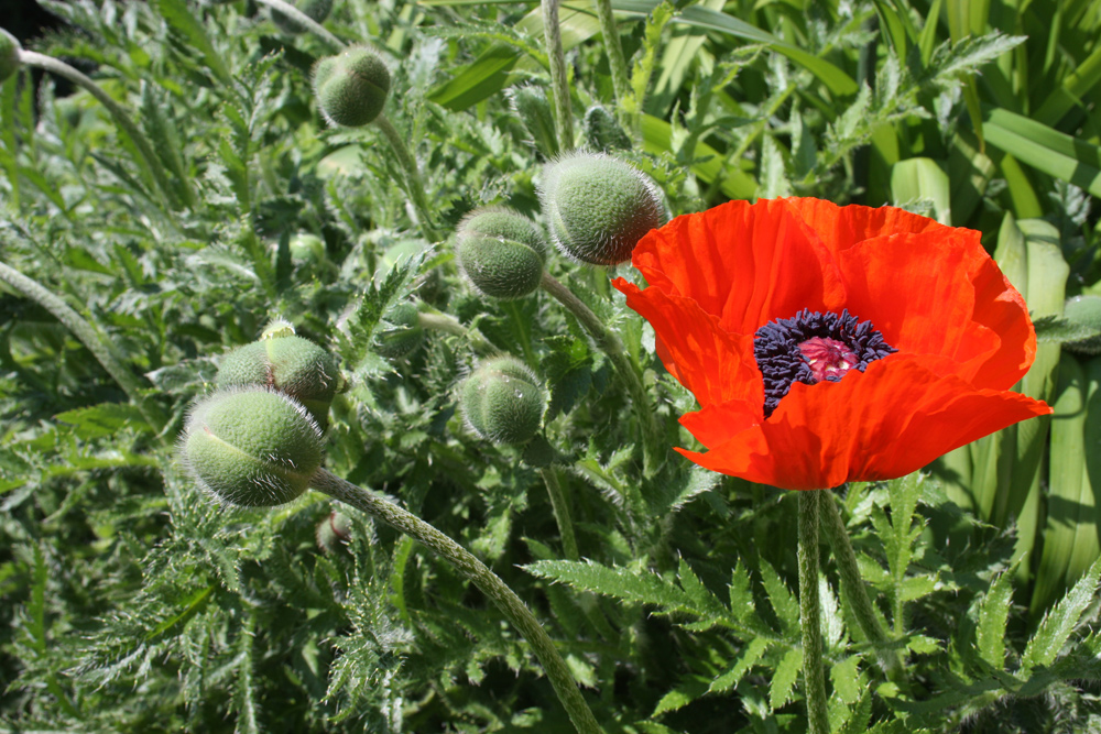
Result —
[[[799,492],[799,626],[803,627],[803,679],[809,734],[829,734],[822,667],[822,613],[818,598],[818,523],[822,500],[829,499],[825,492]]]

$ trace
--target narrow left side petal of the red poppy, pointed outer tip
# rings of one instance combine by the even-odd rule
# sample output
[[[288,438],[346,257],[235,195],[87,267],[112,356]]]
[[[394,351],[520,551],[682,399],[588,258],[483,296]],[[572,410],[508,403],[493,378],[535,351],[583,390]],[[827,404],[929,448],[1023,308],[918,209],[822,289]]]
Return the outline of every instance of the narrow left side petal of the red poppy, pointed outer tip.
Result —
[[[657,355],[697,401],[706,405],[737,398],[764,405],[764,383],[753,359],[752,337],[728,333],[690,298],[655,287],[643,291],[623,278],[615,278],[612,285],[626,296],[626,305],[654,327]]]

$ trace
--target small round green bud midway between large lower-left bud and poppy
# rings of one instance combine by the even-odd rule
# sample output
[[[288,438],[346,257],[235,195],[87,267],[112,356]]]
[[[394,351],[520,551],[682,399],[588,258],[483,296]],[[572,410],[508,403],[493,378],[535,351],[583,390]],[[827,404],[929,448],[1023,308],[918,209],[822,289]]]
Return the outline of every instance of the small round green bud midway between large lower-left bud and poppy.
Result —
[[[526,443],[543,426],[547,394],[527,366],[512,357],[482,362],[462,384],[462,415],[494,443]]]

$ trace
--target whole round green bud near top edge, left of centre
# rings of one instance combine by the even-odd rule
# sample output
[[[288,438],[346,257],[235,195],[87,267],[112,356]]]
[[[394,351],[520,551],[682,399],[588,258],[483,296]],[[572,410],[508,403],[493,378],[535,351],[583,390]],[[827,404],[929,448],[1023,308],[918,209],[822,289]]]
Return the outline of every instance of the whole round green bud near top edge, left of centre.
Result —
[[[351,46],[317,62],[314,92],[330,124],[359,128],[382,113],[390,72],[370,48]]]

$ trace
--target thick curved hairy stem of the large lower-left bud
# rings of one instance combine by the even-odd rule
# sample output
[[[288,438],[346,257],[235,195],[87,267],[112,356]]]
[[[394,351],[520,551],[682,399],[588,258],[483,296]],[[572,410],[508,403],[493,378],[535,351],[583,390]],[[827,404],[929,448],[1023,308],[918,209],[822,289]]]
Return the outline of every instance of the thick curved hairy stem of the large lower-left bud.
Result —
[[[566,662],[562,659],[562,656],[558,655],[558,650],[555,649],[554,642],[552,642],[535,616],[527,610],[524,602],[516,596],[515,592],[504,581],[489,570],[484,563],[478,560],[466,548],[416,515],[350,482],[346,482],[325,469],[317,471],[312,485],[315,490],[362,510],[421,541],[433,551],[439,554],[456,570],[481,589],[532,646],[532,651],[535,653],[535,657],[543,665],[543,669],[546,671],[555,693],[558,694],[558,700],[565,706],[566,713],[569,714],[569,719],[574,722],[574,727],[578,731],[578,734],[602,734],[600,724],[597,723],[592,711],[589,710],[585,698],[577,689],[577,682],[574,680],[573,675],[570,675],[569,668],[566,667]]]

